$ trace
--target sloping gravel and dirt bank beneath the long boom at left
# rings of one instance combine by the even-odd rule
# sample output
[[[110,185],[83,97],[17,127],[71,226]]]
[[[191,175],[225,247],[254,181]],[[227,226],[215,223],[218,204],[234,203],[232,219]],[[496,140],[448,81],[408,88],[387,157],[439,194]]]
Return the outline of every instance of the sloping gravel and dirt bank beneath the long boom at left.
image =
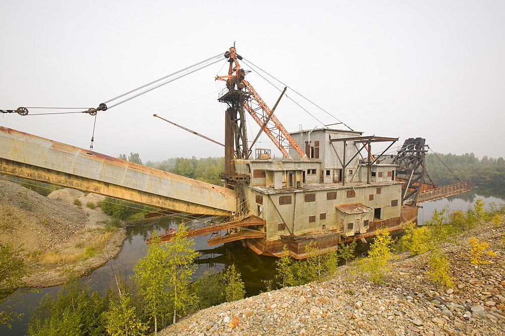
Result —
[[[0,180],[0,242],[24,249],[29,287],[60,285],[121,251],[125,230],[107,225],[111,218],[96,206],[101,200],[72,189],[44,197]]]

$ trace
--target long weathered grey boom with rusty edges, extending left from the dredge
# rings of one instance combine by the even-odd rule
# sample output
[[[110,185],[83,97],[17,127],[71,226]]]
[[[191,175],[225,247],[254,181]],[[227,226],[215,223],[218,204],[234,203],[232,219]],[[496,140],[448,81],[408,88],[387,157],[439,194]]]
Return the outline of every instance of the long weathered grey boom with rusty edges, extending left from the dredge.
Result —
[[[0,174],[194,214],[236,212],[233,190],[0,127]]]

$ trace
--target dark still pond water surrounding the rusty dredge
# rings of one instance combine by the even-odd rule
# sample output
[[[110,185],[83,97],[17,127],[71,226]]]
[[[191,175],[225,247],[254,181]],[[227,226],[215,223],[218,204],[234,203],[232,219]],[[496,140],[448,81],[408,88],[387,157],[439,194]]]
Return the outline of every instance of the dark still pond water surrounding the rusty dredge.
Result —
[[[500,196],[486,196],[479,194],[479,189],[473,191],[450,196],[444,199],[431,201],[422,204],[419,209],[419,223],[430,219],[434,209],[442,209],[446,205],[449,210],[466,210],[472,205],[475,200],[482,199],[488,205],[490,202],[501,204],[505,198]],[[133,266],[137,261],[145,255],[145,240],[151,230],[163,232],[170,228],[177,228],[179,220],[173,217],[164,217],[152,219],[143,222],[142,225],[127,228],[127,239],[124,242],[121,253],[110,260],[107,264],[94,270],[90,275],[81,278],[81,281],[87,282],[95,290],[104,292],[109,287],[112,279],[113,271],[121,271],[127,276],[133,274]],[[242,275],[242,280],[245,283],[247,296],[257,295],[262,291],[266,291],[263,281],[272,280],[275,283],[275,260],[273,257],[259,256],[242,247],[239,242],[227,243],[218,246],[209,246],[207,239],[210,236],[195,237],[195,249],[200,252],[200,257],[197,260],[197,271],[195,278],[203,274],[205,271],[218,272],[223,270],[227,265],[235,264],[237,270]],[[44,288],[37,293],[25,293],[18,297],[20,300],[14,305],[14,310],[18,313],[24,313],[21,320],[16,320],[12,323],[12,329],[5,325],[0,325],[0,335],[24,335],[26,333],[26,325],[30,318],[30,311],[38,306],[40,300],[45,294],[56,294],[60,286]]]

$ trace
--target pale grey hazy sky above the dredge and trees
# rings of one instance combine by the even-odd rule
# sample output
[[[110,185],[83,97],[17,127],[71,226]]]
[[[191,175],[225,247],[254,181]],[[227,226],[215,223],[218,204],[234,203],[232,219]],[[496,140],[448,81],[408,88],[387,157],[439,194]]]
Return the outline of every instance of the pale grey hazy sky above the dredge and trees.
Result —
[[[424,137],[437,152],[505,156],[503,0],[0,0],[0,30],[0,109],[95,107],[236,41],[246,60],[364,135],[399,137],[398,144]],[[214,77],[226,66],[223,58],[100,112],[94,150],[138,152],[144,162],[224,155],[153,114],[223,142],[217,97],[224,85]],[[272,107],[279,91],[255,72],[246,78]],[[287,94],[323,124],[337,122]],[[288,131],[321,127],[286,98],[276,116]],[[93,122],[86,114],[0,116],[2,126],[83,148]],[[248,125],[252,140],[259,126],[251,118]],[[273,149],[267,139],[258,146]]]

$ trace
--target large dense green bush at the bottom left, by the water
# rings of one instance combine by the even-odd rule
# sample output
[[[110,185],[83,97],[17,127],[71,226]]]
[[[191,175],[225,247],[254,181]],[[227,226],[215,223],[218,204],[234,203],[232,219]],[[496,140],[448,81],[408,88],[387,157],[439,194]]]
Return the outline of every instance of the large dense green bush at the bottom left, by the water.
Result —
[[[29,335],[103,335],[105,299],[74,280],[62,286],[57,298],[46,295],[28,325]]]

